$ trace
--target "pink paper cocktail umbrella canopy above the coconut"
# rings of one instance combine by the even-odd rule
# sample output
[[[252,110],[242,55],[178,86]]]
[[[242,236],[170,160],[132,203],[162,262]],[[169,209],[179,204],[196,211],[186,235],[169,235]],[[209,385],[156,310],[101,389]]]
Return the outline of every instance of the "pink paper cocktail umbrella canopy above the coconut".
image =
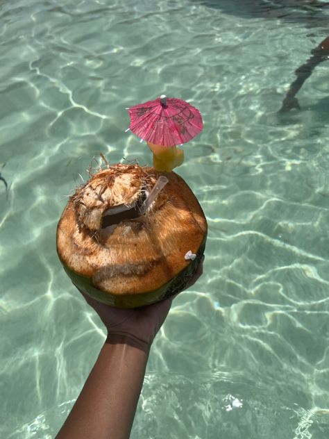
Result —
[[[163,147],[183,144],[203,129],[200,111],[182,99],[162,94],[154,101],[127,108],[129,129],[142,140]]]

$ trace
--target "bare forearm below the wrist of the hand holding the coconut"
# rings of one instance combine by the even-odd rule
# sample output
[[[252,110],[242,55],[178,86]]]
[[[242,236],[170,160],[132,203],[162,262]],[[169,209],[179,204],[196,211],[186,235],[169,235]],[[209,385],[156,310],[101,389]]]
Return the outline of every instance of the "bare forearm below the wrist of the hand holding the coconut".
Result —
[[[124,338],[107,342],[56,438],[129,438],[147,358]]]

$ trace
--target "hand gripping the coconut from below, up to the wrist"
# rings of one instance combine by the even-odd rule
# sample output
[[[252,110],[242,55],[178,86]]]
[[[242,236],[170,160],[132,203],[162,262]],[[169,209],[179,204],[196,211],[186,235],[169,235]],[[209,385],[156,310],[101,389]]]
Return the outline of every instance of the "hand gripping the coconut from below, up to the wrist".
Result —
[[[203,273],[203,260],[185,289],[194,285]],[[87,304],[92,306],[108,331],[107,342],[127,342],[130,345],[149,350],[156,333],[169,313],[174,297],[156,304],[133,309],[115,308],[102,304],[79,290]]]

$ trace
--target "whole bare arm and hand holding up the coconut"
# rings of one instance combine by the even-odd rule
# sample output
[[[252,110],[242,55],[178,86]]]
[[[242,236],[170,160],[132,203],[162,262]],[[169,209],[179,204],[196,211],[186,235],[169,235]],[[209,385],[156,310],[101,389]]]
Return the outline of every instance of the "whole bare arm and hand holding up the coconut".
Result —
[[[187,288],[203,272],[203,259]],[[84,295],[108,331],[90,375],[56,439],[128,439],[149,350],[172,299],[118,309]]]

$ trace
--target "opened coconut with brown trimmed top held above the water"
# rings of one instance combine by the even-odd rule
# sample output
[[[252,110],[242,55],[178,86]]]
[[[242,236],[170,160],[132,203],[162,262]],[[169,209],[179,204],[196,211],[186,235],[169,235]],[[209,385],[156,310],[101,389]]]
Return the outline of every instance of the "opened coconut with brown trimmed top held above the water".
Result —
[[[161,181],[167,184],[151,201]],[[57,251],[80,290],[105,304],[135,308],[185,288],[206,235],[203,210],[180,176],[118,164],[93,174],[69,199]]]

